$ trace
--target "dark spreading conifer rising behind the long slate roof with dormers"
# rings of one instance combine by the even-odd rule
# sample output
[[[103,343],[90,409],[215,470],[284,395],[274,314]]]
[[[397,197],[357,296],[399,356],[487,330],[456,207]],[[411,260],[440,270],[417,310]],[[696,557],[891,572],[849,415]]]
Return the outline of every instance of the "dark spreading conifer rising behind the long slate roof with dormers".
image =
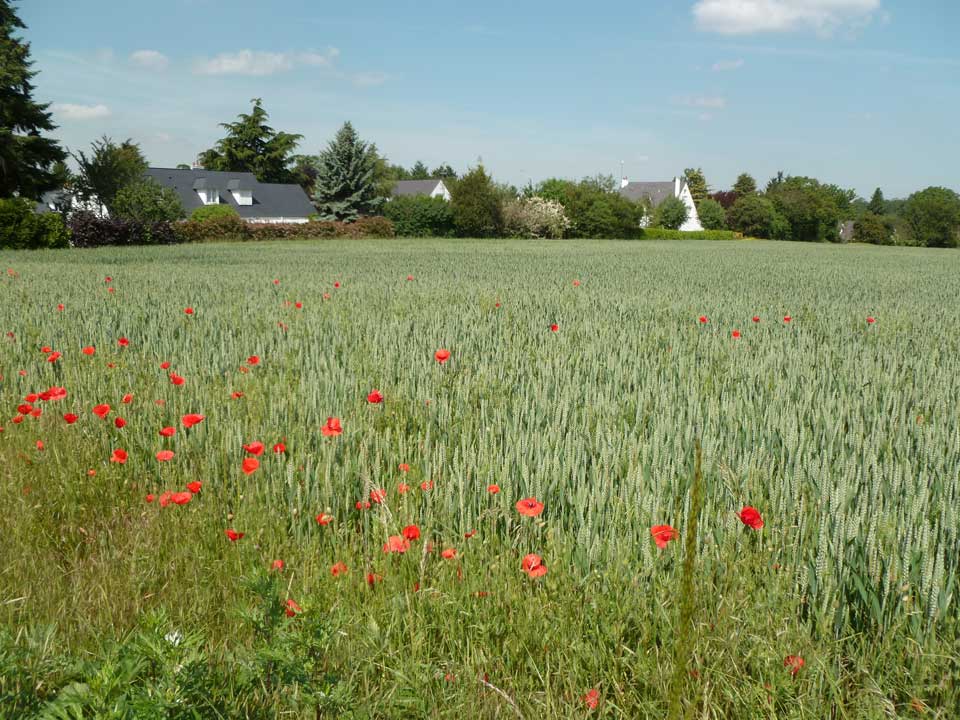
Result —
[[[236,122],[220,124],[227,135],[200,153],[200,164],[207,170],[252,172],[260,182],[296,182],[289,168],[303,136],[274,130],[267,125],[270,116],[263,109],[263,101],[254,98],[250,102],[250,113],[240,113]]]

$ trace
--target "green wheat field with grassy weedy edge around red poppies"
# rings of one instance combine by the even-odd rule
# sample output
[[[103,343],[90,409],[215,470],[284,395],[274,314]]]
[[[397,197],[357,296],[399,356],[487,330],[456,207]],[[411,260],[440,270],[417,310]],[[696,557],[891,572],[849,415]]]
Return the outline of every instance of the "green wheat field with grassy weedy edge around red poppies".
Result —
[[[960,706],[955,252],[391,240],[0,262],[0,717]],[[8,420],[49,387],[66,398]],[[187,505],[145,501],[191,481]],[[679,532],[663,549],[658,524]]]

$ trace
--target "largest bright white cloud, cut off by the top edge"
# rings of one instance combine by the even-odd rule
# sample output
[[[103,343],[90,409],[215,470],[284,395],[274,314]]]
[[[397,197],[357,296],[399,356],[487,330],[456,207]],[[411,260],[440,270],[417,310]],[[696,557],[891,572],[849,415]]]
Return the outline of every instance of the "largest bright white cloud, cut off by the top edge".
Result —
[[[701,30],[724,35],[813,29],[829,34],[843,25],[869,22],[880,0],[697,0]]]

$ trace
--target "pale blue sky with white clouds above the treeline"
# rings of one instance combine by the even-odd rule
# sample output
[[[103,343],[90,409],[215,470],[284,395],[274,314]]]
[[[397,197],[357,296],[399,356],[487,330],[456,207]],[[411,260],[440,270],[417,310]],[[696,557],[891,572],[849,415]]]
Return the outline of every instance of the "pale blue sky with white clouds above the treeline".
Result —
[[[812,175],[960,190],[957,0],[21,0],[71,149],[189,163],[261,97],[315,153],[344,120],[391,161],[500,180]]]

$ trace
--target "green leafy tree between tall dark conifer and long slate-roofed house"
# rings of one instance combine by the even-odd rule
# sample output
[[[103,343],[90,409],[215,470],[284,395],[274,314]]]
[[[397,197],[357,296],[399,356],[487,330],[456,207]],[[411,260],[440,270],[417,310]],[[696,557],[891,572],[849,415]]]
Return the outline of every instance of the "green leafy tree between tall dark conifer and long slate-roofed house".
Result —
[[[99,203],[111,215],[117,193],[143,180],[147,171],[147,160],[140,146],[129,138],[118,145],[104,135],[93,141],[89,156],[81,150],[73,159],[80,167],[75,183],[77,194],[86,203]]]

